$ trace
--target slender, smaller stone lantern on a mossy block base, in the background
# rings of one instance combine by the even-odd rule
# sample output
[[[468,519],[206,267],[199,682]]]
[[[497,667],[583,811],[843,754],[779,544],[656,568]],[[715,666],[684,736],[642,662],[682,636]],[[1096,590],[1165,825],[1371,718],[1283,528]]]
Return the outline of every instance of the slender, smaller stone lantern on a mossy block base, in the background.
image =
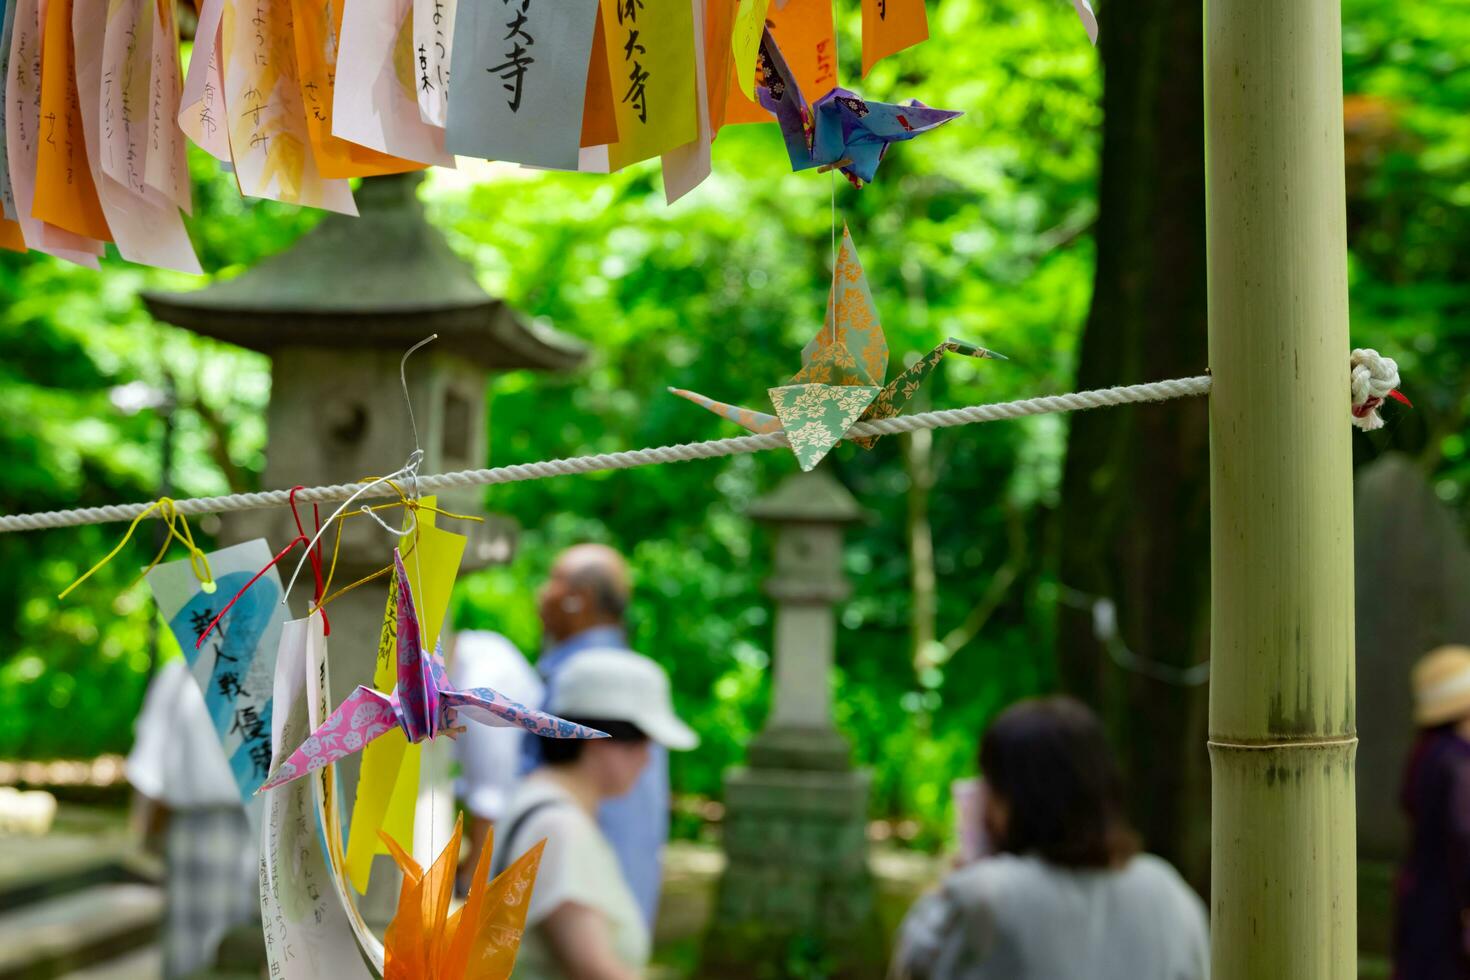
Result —
[[[750,516],[775,533],[773,705],[748,765],[725,779],[725,854],[700,976],[781,976],[792,956],[833,977],[882,976],[867,868],[869,773],[832,726],[842,530],[864,519],[825,470],[797,473]]]

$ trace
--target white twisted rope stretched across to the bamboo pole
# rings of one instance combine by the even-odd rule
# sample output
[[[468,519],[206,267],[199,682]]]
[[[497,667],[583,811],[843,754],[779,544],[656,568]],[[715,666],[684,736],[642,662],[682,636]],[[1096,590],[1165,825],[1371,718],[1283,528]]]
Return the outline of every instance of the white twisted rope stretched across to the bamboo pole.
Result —
[[[1180,378],[1176,381],[1155,381],[1147,385],[1075,391],[1064,395],[1047,395],[1042,398],[1025,398],[1022,401],[970,406],[967,408],[925,411],[914,416],[898,416],[895,419],[881,419],[876,422],[858,422],[847,430],[847,435],[848,438],[857,438],[869,435],[897,435],[900,432],[916,432],[919,429],[948,429],[951,426],[975,425],[979,422],[1001,422],[1004,419],[1023,419],[1026,416],[1041,416],[1057,411],[1083,411],[1086,408],[1127,406],[1144,401],[1194,398],[1208,392],[1210,376],[1201,375],[1197,378]],[[656,466],[660,463],[711,460],[722,455],[763,453],[784,445],[786,445],[786,435],[784,432],[772,432],[769,435],[742,435],[731,439],[662,445],[647,450],[629,450],[626,453],[578,455],[567,460],[516,463],[513,466],[497,466],[488,470],[460,470],[457,473],[420,476],[419,492],[437,494],[440,491],[462,489],[466,486],[491,486],[494,483],[541,480],[551,476],[573,476],[579,473],[597,473],[601,470],[628,470],[638,466]],[[303,504],[328,504],[350,500],[354,495],[360,495],[363,498],[379,498],[394,497],[395,492],[388,486],[376,486],[365,492],[362,483],[337,483],[335,486],[312,486],[309,489],[297,491],[295,500]],[[229,494],[228,497],[196,497],[191,500],[175,501],[175,505],[178,513],[194,516],[223,514],[241,510],[263,510],[268,507],[287,507],[290,502],[291,491],[265,491],[260,494]],[[143,504],[82,507],[78,510],[53,510],[40,514],[9,514],[0,517],[0,533],[12,530],[44,530],[49,527],[79,527],[82,525],[134,520],[138,514],[147,510],[148,504],[151,504],[151,501]]]

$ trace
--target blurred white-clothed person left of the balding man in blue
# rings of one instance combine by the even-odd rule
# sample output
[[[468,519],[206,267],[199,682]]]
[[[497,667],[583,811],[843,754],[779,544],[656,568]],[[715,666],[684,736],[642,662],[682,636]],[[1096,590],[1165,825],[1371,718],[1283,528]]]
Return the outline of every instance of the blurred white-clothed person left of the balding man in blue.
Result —
[[[450,658],[454,686],[462,691],[490,688],[520,704],[541,704],[545,685],[516,645],[500,633],[463,630],[454,636]],[[520,729],[470,724],[454,739],[460,764],[456,792],[470,814],[469,851],[460,862],[462,879],[479,862],[491,827],[506,813],[519,782]],[[469,882],[460,882],[460,892]]]

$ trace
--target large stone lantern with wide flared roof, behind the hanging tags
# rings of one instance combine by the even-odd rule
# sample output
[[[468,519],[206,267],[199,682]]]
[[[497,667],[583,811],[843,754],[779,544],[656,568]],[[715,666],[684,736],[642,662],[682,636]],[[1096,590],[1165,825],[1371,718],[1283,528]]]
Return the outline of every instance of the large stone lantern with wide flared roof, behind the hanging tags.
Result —
[[[422,179],[420,173],[366,179],[357,191],[360,217],[326,215],[291,248],[197,292],[144,294],[148,311],[166,323],[270,356],[265,486],[345,483],[401,467],[415,448],[415,426],[404,406],[400,360],[431,334],[438,341],[419,350],[406,369],[423,475],[487,464],[491,372],[566,372],[582,361],[581,345],[528,323],[479,288],[469,266],[425,219],[416,192]],[[484,514],[481,500],[479,489],[440,497],[445,510],[485,517],[482,525],[445,522],[469,535],[462,573],[509,561],[513,552],[514,523]],[[310,519],[309,508],[303,519]],[[220,539],[263,536],[279,548],[295,533],[291,513],[273,508],[228,516]],[[391,545],[376,525],[348,522],[335,583],[382,569]],[[282,582],[298,554],[284,563]],[[304,588],[298,582],[295,595],[309,597],[310,582]],[[385,595],[387,580],[381,588],[354,589],[326,608],[334,638],[345,641],[332,648],[338,693],[372,683]],[[303,608],[300,598],[294,607]],[[451,646],[450,638],[444,645]],[[432,745],[426,749],[425,765],[429,751],[442,755]],[[359,760],[351,755],[340,763],[344,814],[351,813]],[[440,763],[445,777],[434,785],[448,792],[448,757]],[[379,889],[378,882],[391,884],[394,868],[382,864],[390,874],[373,873],[363,905],[369,920],[379,893],[391,914],[395,892]]]

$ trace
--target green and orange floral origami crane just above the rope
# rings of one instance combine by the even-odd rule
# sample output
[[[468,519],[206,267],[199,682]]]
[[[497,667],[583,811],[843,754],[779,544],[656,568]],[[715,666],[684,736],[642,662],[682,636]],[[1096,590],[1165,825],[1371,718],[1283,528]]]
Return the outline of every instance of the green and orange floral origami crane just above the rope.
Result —
[[[826,322],[811,342],[801,348],[801,370],[785,385],[767,389],[776,408],[775,416],[681,388],[669,391],[751,432],[785,430],[801,469],[810,470],[842,441],[854,422],[900,414],[947,353],[1005,360],[994,351],[951,336],[883,385],[888,341],[878,322],[878,309],[853,247],[853,235],[844,225],[842,248],[832,270]],[[872,448],[878,436],[854,442]]]

